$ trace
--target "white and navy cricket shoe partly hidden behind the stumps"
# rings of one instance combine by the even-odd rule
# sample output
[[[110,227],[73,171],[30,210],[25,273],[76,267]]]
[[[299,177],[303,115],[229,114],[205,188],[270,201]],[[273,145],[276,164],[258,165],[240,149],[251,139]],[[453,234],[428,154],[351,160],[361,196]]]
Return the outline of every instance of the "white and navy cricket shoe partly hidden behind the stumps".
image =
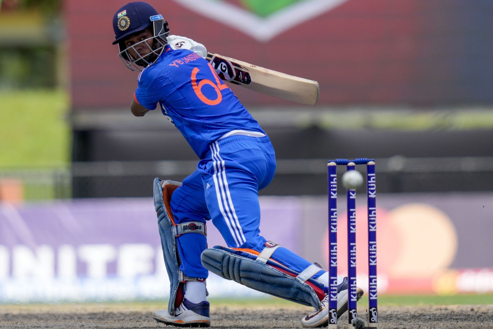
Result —
[[[363,295],[363,290],[356,287],[356,300]],[[322,308],[315,310],[303,319],[301,324],[305,328],[327,327],[329,323],[329,291],[325,290],[325,298],[321,301]],[[340,285],[337,286],[337,318],[348,310],[348,277],[345,277]]]

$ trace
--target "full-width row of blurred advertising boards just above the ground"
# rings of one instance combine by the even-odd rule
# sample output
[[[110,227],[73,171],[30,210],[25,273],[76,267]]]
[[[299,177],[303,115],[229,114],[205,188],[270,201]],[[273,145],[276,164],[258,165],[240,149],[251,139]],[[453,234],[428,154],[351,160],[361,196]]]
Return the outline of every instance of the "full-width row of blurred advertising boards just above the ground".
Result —
[[[356,200],[357,285],[368,284],[365,194]],[[340,275],[347,214],[338,205]],[[327,266],[326,197],[261,197],[261,234]],[[378,195],[381,293],[493,292],[493,193]],[[224,245],[211,222],[209,246]],[[211,297],[254,296],[213,274]],[[152,199],[0,203],[0,303],[166,299]]]

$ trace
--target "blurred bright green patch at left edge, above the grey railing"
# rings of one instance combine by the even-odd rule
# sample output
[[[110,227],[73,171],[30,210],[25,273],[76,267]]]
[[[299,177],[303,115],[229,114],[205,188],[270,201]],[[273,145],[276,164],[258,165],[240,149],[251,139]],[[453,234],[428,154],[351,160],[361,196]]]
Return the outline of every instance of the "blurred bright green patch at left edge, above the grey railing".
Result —
[[[60,168],[70,160],[69,97],[60,90],[1,91],[0,169]]]

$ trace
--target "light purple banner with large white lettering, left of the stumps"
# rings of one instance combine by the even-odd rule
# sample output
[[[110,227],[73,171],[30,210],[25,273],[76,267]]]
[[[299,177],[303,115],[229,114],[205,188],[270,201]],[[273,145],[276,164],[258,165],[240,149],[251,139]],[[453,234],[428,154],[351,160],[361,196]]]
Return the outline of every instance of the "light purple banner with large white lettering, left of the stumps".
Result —
[[[263,200],[261,216],[262,234],[299,248],[296,198]],[[209,246],[224,245],[208,225]],[[152,199],[0,204],[0,302],[167,298],[167,277]],[[258,295],[211,275],[211,295],[215,285]]]

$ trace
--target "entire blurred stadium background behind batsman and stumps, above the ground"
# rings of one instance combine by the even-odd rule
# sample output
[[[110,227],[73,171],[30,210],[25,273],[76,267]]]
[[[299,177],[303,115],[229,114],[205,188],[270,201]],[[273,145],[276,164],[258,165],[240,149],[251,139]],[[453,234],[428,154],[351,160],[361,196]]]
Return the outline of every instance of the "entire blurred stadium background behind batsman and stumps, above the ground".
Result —
[[[130,113],[137,74],[111,45],[125,2],[0,1],[0,303],[168,295],[152,179],[197,158],[161,113]],[[231,86],[277,153],[268,239],[326,265],[326,161],[376,158],[379,292],[493,292],[493,2],[148,2],[172,34],[319,82],[314,107]]]

